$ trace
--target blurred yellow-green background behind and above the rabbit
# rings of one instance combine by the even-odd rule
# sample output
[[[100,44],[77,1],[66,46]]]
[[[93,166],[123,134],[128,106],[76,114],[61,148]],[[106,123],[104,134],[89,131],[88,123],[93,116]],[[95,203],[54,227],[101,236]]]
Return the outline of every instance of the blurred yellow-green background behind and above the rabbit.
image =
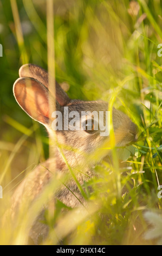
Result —
[[[33,63],[47,69],[46,1],[17,1],[23,42],[17,38],[12,1],[0,1],[3,186],[25,168],[33,168],[33,164],[48,157],[45,129],[22,111],[12,93],[22,64]],[[145,170],[134,178],[135,185],[145,183],[149,198],[145,194],[144,204],[156,205],[158,209],[161,206],[156,193],[158,182],[162,184],[162,155],[149,147],[162,144],[162,57],[157,54],[162,42],[161,11],[161,0],[54,0],[56,80],[72,99],[109,102],[121,87],[114,106],[135,121],[141,134],[139,144],[147,147],[146,152],[141,151],[133,159],[137,161],[133,170]],[[138,162],[147,163],[148,168]],[[115,243],[114,240],[111,242]]]

